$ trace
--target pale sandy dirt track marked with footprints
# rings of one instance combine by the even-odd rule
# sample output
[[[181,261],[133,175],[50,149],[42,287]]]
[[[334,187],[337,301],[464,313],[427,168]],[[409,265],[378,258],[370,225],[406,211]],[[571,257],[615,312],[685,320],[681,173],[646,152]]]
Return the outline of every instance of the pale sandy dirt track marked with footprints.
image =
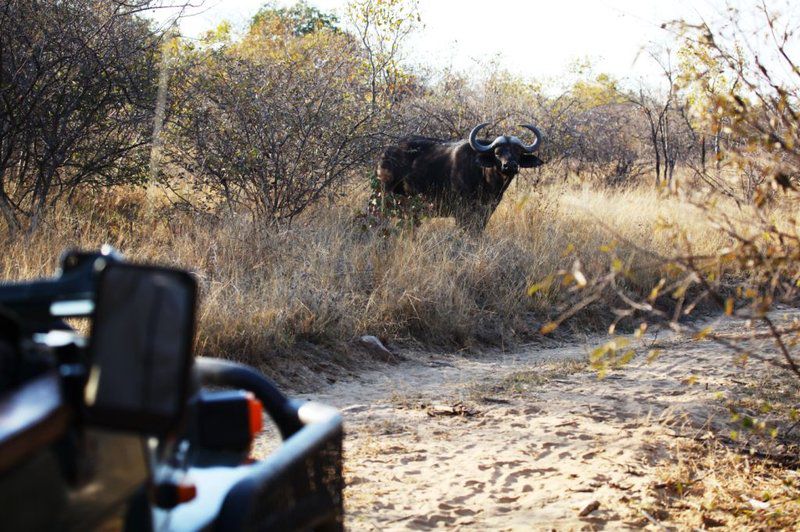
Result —
[[[638,356],[604,380],[580,369],[579,346],[404,353],[406,362],[315,394],[345,416],[348,528],[647,525],[633,508],[647,503],[664,459],[658,442],[723,419],[717,393],[743,378],[712,344],[660,343],[669,349],[654,363]]]

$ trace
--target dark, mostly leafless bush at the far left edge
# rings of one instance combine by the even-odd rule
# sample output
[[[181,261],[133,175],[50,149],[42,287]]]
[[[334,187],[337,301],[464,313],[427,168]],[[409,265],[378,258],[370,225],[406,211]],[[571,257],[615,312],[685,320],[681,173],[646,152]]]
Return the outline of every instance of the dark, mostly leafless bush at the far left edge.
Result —
[[[0,214],[35,226],[79,189],[141,182],[160,37],[149,0],[0,1]]]

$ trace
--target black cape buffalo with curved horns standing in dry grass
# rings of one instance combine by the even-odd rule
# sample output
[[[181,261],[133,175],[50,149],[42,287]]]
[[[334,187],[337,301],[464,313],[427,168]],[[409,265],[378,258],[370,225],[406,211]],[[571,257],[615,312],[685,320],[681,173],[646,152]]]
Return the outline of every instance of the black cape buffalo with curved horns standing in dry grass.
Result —
[[[501,135],[489,142],[478,140],[488,123],[475,126],[467,140],[445,141],[408,137],[386,149],[378,164],[378,179],[385,195],[419,194],[439,216],[454,216],[464,228],[482,230],[503,193],[520,168],[544,164],[533,153],[542,144],[542,133],[533,144]]]

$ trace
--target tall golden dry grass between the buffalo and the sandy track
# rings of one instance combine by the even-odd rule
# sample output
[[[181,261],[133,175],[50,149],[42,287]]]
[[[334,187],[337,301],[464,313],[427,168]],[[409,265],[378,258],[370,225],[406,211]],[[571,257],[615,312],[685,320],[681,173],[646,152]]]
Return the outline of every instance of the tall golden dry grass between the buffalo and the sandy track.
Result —
[[[721,245],[701,213],[650,189],[522,185],[511,192],[486,233],[473,237],[449,220],[388,235],[365,227],[356,216],[364,191],[282,230],[180,211],[154,190],[117,191],[61,208],[32,236],[6,242],[0,275],[50,275],[64,248],[102,243],[133,259],[189,268],[202,287],[198,352],[302,382],[354,362],[347,342],[362,334],[457,348],[535,336],[565,288],[533,298],[526,289],[569,267],[569,247],[591,274],[608,267],[601,247],[618,241],[616,253],[637,271],[630,283],[649,290],[661,271],[647,253],[672,249],[656,229],[659,219],[685,225],[701,248]],[[609,320],[585,312],[572,323]]]

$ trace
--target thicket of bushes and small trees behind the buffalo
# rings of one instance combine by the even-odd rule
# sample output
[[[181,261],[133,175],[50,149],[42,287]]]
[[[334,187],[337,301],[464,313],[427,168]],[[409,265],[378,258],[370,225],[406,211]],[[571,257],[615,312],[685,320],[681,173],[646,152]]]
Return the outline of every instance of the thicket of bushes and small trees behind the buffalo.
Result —
[[[353,0],[342,21],[267,6],[243,34],[223,23],[200,41],[143,17],[158,5],[0,2],[4,232],[86,190],[141,183],[279,225],[366,181],[391,140],[463,138],[482,121],[536,122],[551,168],[615,185],[671,182],[727,138],[690,117],[677,69],[661,91],[585,66],[560,86],[491,65],[480,79],[425,73],[402,60],[411,0]]]

